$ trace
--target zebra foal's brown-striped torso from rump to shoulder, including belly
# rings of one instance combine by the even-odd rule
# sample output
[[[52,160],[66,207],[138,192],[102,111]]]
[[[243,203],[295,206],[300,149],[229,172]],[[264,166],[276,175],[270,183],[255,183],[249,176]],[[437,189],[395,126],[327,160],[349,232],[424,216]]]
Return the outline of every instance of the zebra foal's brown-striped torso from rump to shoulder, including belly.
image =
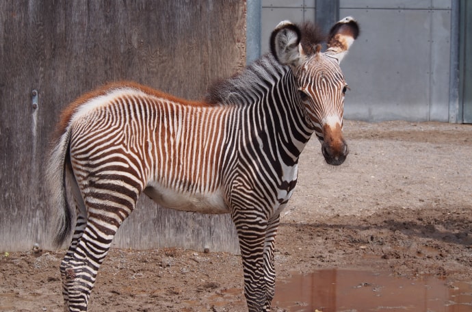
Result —
[[[113,85],[70,115],[70,158],[83,190],[115,183],[164,207],[226,213],[222,192],[231,107]],[[120,187],[122,184],[122,187]],[[133,195],[134,195],[133,194]],[[129,200],[135,196],[129,196]],[[127,211],[128,213],[131,211]]]

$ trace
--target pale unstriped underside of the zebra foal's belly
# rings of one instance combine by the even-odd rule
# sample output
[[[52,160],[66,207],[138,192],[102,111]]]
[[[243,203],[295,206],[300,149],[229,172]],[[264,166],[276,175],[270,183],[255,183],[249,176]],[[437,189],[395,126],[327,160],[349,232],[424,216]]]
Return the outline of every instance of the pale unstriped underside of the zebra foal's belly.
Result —
[[[200,213],[229,213],[224,203],[222,192],[192,193],[182,190],[172,190],[161,185],[148,185],[144,194],[152,198],[162,207],[194,211]]]

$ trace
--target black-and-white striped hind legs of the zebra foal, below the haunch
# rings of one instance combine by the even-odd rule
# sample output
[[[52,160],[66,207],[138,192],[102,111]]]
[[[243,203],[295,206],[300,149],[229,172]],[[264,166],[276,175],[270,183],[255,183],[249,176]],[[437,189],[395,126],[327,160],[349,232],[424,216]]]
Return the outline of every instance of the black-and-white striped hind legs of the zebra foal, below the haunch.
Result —
[[[104,183],[94,182],[88,190],[85,203],[86,224],[78,242],[64,259],[64,294],[69,312],[87,311],[96,274],[112,245],[116,231],[133,211],[141,187],[124,184],[121,176],[108,176]],[[126,188],[126,190],[125,190]],[[80,227],[77,233],[79,234]]]

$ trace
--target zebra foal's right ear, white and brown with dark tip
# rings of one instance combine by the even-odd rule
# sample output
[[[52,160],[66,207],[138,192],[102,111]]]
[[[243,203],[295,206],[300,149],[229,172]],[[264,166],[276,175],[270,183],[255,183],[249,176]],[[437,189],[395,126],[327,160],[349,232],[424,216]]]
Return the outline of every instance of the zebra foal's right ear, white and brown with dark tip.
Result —
[[[326,53],[337,58],[338,62],[343,60],[348,53],[352,42],[359,36],[359,25],[351,16],[343,18],[330,30],[328,36],[328,49]]]

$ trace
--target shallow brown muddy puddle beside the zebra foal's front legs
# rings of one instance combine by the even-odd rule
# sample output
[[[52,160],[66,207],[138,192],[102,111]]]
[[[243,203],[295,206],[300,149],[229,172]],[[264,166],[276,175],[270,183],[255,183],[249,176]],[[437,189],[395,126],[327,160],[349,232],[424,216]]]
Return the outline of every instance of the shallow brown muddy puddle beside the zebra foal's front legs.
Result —
[[[352,270],[319,270],[278,281],[272,305],[289,312],[471,312],[472,282],[410,280]]]

